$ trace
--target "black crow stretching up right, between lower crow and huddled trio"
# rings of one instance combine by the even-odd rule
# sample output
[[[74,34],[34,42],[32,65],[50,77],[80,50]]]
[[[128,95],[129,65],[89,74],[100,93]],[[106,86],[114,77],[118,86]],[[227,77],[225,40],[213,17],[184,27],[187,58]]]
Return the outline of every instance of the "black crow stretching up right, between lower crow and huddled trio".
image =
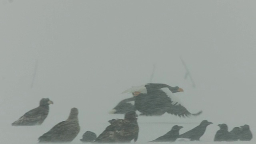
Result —
[[[199,126],[196,126],[192,130],[189,130],[188,132],[185,132],[184,134],[181,134],[180,136],[178,136],[178,138],[188,138],[191,141],[200,140],[200,137],[204,134],[206,127],[210,124],[212,124],[212,122],[203,120]]]

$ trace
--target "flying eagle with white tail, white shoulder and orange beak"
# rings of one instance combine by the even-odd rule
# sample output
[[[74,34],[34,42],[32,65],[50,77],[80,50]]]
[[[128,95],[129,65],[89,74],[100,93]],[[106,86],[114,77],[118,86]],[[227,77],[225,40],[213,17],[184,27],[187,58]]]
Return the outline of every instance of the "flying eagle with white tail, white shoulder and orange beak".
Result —
[[[140,115],[156,116],[165,112],[179,117],[198,116],[202,111],[192,114],[182,106],[176,92],[183,92],[182,88],[171,87],[167,84],[145,84],[142,86],[133,86],[122,93],[132,93],[135,97],[135,108],[141,112]]]

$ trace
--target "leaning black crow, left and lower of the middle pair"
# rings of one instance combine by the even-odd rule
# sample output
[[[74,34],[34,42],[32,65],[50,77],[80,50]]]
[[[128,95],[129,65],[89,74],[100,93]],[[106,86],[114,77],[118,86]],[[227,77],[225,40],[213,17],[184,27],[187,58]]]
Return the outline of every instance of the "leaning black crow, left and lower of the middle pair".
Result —
[[[175,125],[172,127],[172,130],[150,142],[174,142],[178,138],[181,128],[183,128],[183,126]]]

